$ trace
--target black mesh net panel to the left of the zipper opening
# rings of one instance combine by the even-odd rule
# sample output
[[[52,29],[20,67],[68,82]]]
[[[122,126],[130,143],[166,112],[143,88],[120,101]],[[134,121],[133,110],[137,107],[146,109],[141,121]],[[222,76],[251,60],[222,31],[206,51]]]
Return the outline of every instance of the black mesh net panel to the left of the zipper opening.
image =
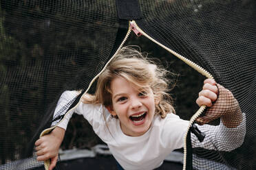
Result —
[[[86,88],[111,56],[114,4],[1,1],[0,169],[42,164],[30,147],[50,126],[61,93]]]

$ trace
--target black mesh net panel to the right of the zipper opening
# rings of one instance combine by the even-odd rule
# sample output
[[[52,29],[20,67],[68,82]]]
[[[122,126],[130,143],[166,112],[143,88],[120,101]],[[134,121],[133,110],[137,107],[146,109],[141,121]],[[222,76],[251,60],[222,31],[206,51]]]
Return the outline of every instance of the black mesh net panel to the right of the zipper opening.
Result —
[[[156,4],[158,8],[153,10]],[[210,71],[217,82],[232,91],[246,113],[243,145],[230,152],[193,149],[195,169],[255,169],[255,151],[246,149],[255,143],[254,7],[255,1],[141,2],[145,20],[138,21],[138,25],[170,49]],[[204,158],[213,161],[206,162]]]

